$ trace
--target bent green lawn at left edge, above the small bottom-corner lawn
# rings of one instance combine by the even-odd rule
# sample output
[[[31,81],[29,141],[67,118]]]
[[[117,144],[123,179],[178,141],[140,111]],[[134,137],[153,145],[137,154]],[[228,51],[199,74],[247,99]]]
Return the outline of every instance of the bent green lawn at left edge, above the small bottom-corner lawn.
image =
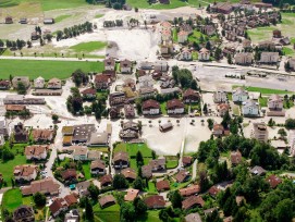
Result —
[[[11,177],[13,177],[13,169],[15,165],[21,165],[26,163],[26,157],[17,155],[13,160],[7,162],[0,162],[0,173],[3,175],[3,180],[11,186]]]

